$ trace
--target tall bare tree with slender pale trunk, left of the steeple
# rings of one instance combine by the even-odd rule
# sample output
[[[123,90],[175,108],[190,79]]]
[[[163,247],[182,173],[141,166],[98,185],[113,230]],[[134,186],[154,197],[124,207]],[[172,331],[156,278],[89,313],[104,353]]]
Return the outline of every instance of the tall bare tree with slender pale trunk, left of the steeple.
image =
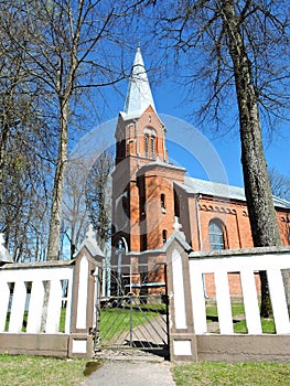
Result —
[[[115,65],[120,62],[114,61],[120,34],[115,25],[122,2],[12,3],[14,21],[26,26],[25,44],[20,45],[29,57],[26,68],[45,92],[43,104],[52,114],[51,125],[58,131],[47,248],[47,259],[57,259],[69,118],[82,89],[112,84],[123,76]]]

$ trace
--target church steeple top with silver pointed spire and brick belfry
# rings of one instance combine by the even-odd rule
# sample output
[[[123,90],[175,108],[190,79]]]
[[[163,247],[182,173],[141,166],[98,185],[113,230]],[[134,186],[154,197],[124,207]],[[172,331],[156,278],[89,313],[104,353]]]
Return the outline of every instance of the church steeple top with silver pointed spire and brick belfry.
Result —
[[[116,164],[128,157],[167,162],[165,128],[157,115],[140,47],[137,49],[123,111],[116,129]]]

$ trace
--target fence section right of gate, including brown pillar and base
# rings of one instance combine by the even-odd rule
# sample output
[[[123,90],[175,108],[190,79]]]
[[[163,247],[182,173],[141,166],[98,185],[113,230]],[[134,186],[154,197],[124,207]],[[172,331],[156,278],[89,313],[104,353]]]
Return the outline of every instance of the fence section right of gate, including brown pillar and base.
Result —
[[[174,361],[290,361],[290,321],[282,271],[290,270],[290,248],[249,248],[189,253],[175,234],[168,243],[170,353]],[[266,271],[276,333],[262,332],[260,293],[255,276]],[[217,320],[206,320],[204,277],[215,282]],[[247,332],[235,333],[232,305],[237,301],[229,277],[239,276]],[[213,300],[213,299],[212,299]],[[241,318],[240,315],[240,319]]]

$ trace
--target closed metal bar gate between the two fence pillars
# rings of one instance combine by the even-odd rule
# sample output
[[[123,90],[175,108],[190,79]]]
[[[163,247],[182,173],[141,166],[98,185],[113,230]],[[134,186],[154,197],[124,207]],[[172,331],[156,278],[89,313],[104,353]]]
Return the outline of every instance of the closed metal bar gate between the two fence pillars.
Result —
[[[168,353],[165,264],[111,266],[103,274],[98,299],[99,349]]]

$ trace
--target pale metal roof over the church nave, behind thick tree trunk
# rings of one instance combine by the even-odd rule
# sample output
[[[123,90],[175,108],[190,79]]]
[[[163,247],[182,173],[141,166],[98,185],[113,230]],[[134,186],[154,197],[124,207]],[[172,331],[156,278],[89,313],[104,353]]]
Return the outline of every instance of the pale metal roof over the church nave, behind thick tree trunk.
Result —
[[[227,200],[246,201],[244,187],[232,186],[218,182],[193,179],[185,176],[182,187],[192,194],[204,194]],[[273,205],[283,208],[290,208],[290,202],[273,195]]]

